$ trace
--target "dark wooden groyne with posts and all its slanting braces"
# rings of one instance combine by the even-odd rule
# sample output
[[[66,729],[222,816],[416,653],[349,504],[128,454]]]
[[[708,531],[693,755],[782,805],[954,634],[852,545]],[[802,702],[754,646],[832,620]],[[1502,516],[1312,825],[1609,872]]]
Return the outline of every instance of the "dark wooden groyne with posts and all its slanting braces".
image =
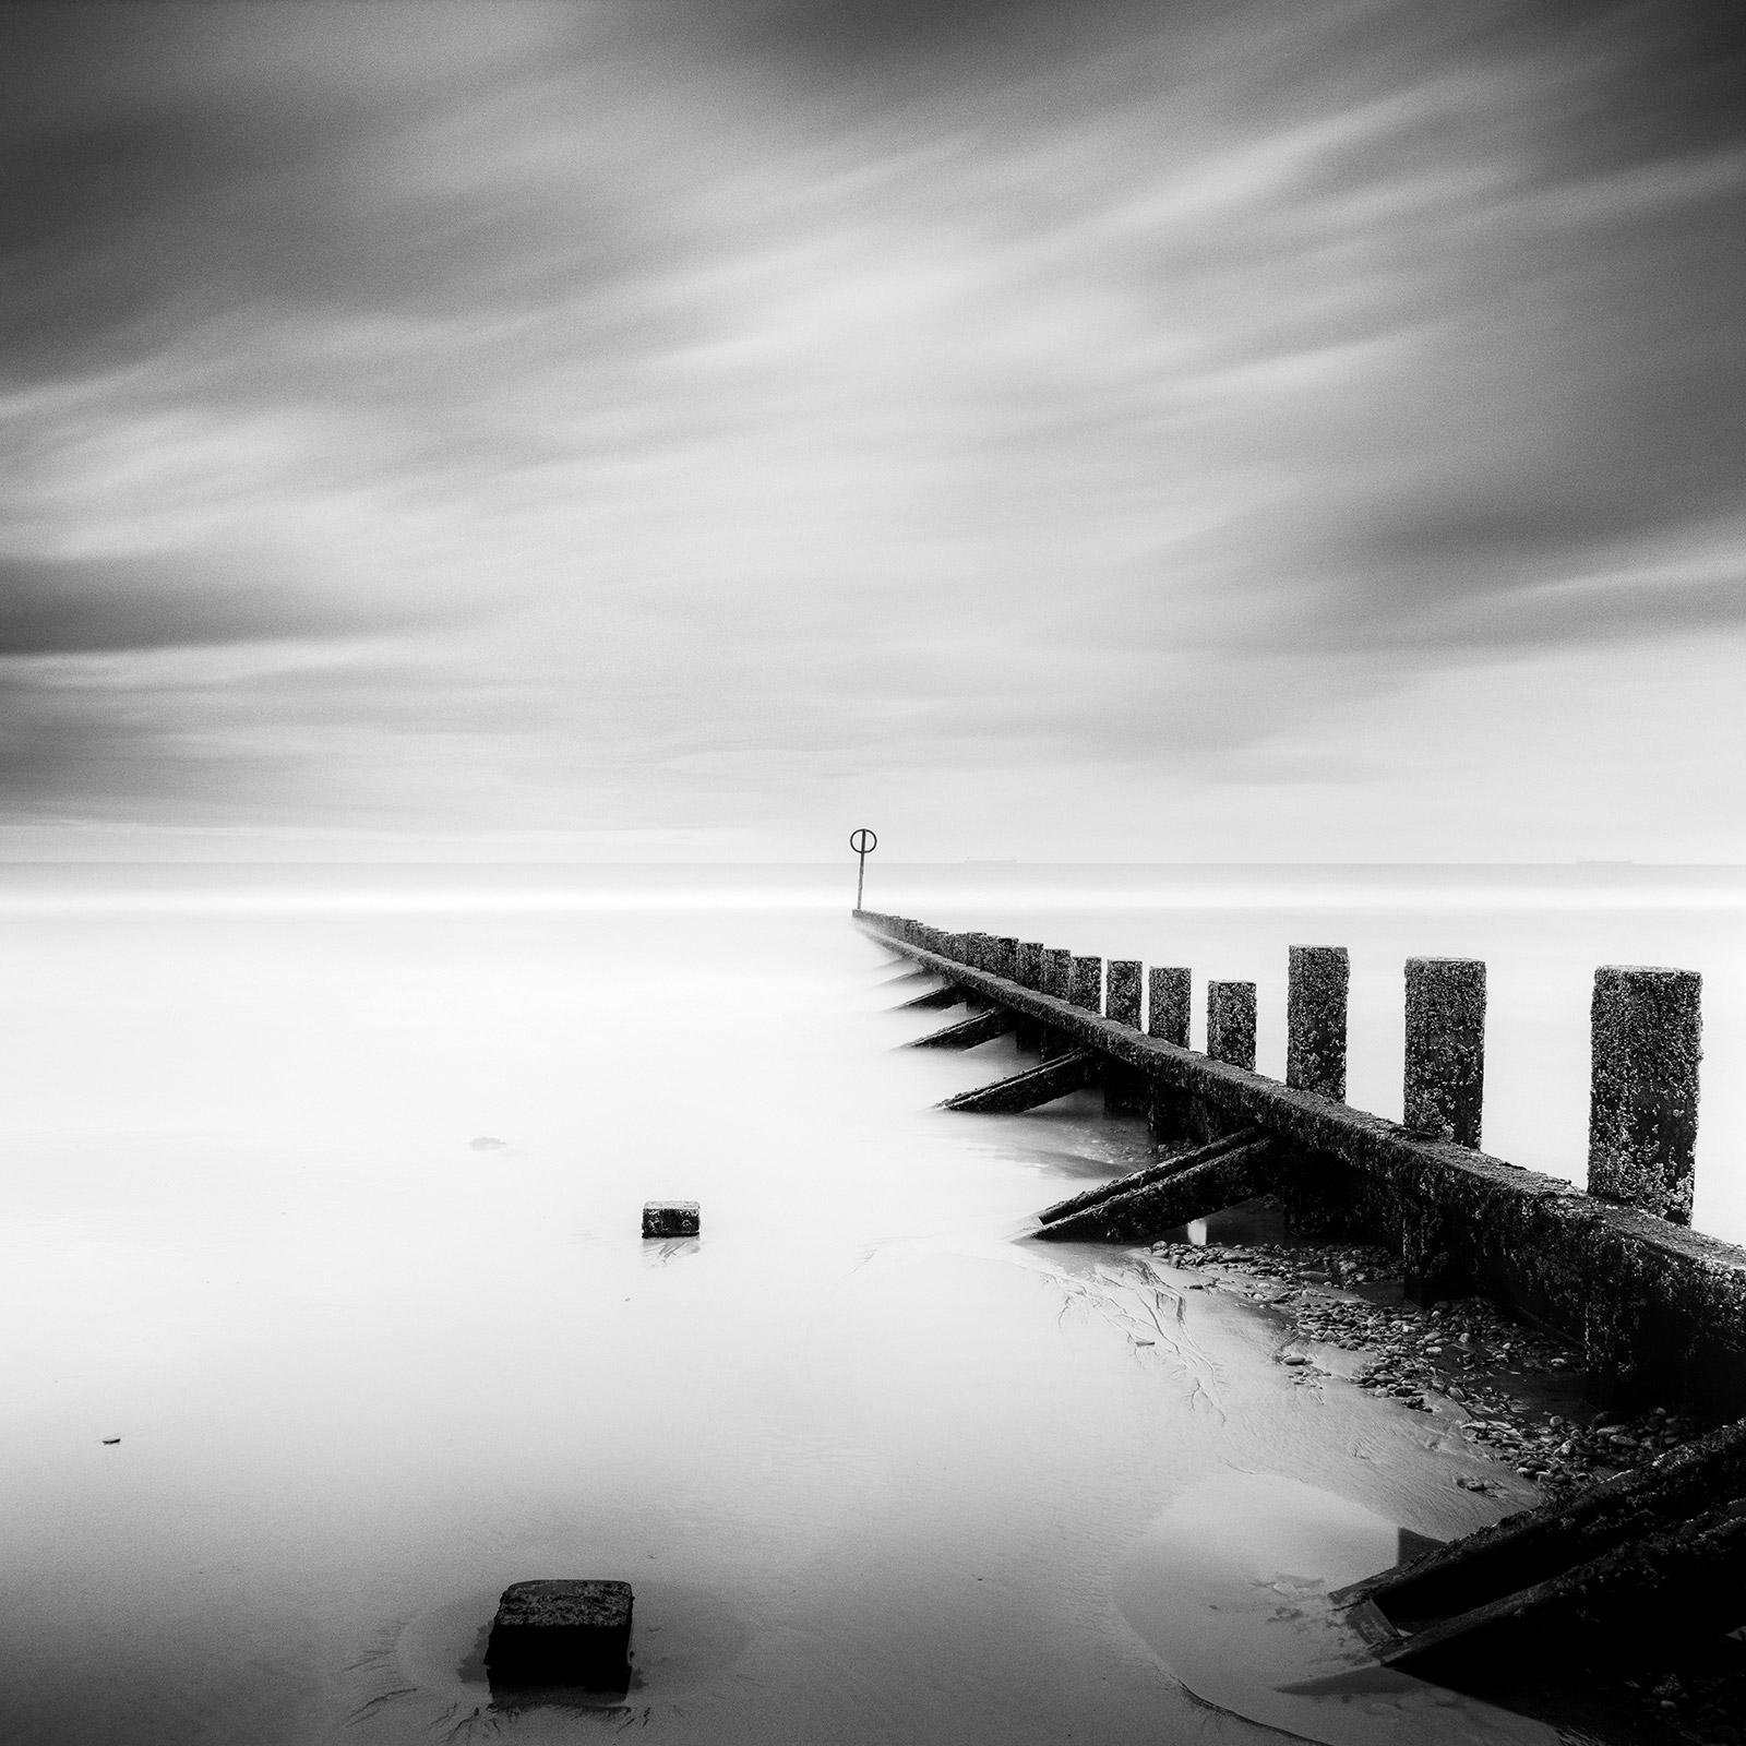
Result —
[[[1477,960],[1407,960],[1395,1123],[1344,1102],[1341,948],[1290,948],[1282,1083],[1255,1072],[1254,983],[1208,983],[1196,1053],[1182,967],[856,917],[978,1009],[924,1042],[1009,1030],[1041,1056],[945,1109],[1035,1109],[1102,1083],[1109,1107],[1147,1114],[1165,1156],[1044,1208],[1039,1238],[1152,1241],[1275,1194],[1304,1234],[1395,1247],[1421,1301],[1481,1294],[1566,1336],[1606,1402],[1739,1419],[1336,1594],[1378,1660],[1488,1688],[1528,1664],[1676,1662],[1746,1622],[1746,1250],[1690,1229],[1695,974],[1596,971],[1584,1191],[1479,1151]]]

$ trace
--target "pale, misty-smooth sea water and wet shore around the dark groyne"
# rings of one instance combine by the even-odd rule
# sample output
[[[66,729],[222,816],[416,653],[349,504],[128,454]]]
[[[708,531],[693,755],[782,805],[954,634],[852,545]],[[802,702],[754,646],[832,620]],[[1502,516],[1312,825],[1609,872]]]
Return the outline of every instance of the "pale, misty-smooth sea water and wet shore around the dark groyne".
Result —
[[[868,901],[1261,983],[1493,966],[1488,1145],[1580,1172],[1587,976],[1708,976],[1699,1220],[1746,1233],[1722,876],[901,870]],[[0,1739],[1550,1737],[1341,1666],[1316,1598],[1519,1502],[1271,1364],[1254,1310],[1023,1240],[1144,1154],[931,1110],[835,870],[10,870]],[[644,1243],[646,1198],[704,1205]],[[1526,1496],[1526,1493],[1523,1493]],[[627,1577],[637,1683],[517,1706],[526,1577]],[[1184,1683],[1186,1681],[1186,1683]],[[1189,1695],[1193,1687],[1206,1704]],[[1247,1718],[1247,1720],[1245,1720]]]

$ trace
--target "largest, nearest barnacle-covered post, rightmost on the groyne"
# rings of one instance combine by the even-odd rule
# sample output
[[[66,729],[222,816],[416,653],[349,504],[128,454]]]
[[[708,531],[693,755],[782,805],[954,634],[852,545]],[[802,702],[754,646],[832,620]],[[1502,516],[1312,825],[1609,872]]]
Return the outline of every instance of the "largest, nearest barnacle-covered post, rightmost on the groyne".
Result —
[[[1589,1007],[1589,1193],[1692,1222],[1697,971],[1603,964]]]

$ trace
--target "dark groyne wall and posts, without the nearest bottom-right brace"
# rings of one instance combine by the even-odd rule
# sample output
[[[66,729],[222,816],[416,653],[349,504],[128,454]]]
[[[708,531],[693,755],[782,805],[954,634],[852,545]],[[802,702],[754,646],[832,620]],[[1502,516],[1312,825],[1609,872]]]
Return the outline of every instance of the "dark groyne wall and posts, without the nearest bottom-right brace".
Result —
[[[1254,1070],[1252,983],[1208,986],[1208,1049],[1187,1048],[1189,973],[856,911],[892,950],[1011,1016],[1039,1069],[952,1100],[1018,1110],[1102,1083],[1173,1156],[1039,1222],[1051,1240],[1151,1241],[1257,1194],[1294,1229],[1393,1245],[1419,1301],[1482,1294],[1568,1337],[1610,1404],[1746,1414],[1746,1252],[1692,1231],[1697,976],[1608,966],[1591,1013],[1591,1191],[1479,1151],[1484,966],[1406,971],[1406,1114],[1343,1102],[1346,953],[1290,953],[1285,1079]],[[1135,992],[1145,986],[1140,1011]],[[1105,988],[1116,992],[1110,1000]],[[1144,1018],[1144,1028],[1142,1028]],[[1051,1070],[1053,1069],[1053,1070]],[[1196,1147],[1248,1135],[1208,1156]]]

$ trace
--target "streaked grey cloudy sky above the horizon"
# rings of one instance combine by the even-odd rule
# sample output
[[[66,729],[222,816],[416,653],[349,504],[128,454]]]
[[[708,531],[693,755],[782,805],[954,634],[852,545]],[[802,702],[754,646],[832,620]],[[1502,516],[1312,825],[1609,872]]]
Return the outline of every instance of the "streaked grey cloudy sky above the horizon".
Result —
[[[0,857],[1746,863],[1732,0],[0,7]]]

